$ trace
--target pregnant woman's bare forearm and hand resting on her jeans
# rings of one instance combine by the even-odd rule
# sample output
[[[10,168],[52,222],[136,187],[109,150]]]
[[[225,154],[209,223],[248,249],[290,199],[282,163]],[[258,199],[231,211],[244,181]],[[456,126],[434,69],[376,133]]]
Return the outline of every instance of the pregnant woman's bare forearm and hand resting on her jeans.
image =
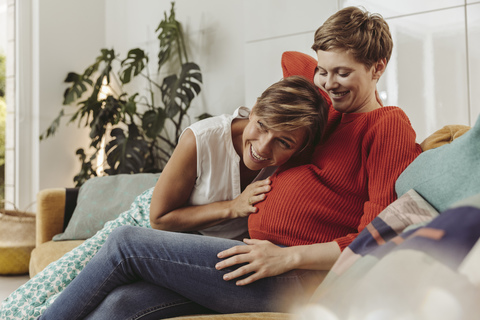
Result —
[[[224,275],[224,280],[229,281],[252,273],[247,278],[238,280],[236,282],[238,286],[293,269],[328,271],[341,253],[340,247],[334,241],[285,248],[266,240],[245,239],[244,242],[246,246],[235,246],[220,252],[218,257],[225,260],[215,266],[222,270],[246,263]]]

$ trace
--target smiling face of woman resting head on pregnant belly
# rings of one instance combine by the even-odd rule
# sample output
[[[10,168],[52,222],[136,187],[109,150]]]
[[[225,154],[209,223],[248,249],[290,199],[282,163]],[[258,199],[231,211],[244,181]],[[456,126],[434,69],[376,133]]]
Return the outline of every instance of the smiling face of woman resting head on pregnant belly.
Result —
[[[300,151],[306,139],[304,128],[293,131],[269,129],[253,112],[243,131],[243,162],[250,170],[281,166]]]

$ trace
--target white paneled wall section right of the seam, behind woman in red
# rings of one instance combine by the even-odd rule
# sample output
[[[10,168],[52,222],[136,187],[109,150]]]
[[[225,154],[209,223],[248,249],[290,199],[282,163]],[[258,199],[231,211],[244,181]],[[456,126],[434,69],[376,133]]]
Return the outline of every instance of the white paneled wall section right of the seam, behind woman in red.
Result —
[[[246,19],[259,21],[245,25],[247,101],[281,76],[278,63],[283,51],[315,56],[310,47],[317,27],[337,9],[354,5],[382,14],[390,26],[394,52],[378,89],[385,105],[405,110],[419,142],[447,124],[473,125],[480,114],[479,1],[246,0],[245,4]]]

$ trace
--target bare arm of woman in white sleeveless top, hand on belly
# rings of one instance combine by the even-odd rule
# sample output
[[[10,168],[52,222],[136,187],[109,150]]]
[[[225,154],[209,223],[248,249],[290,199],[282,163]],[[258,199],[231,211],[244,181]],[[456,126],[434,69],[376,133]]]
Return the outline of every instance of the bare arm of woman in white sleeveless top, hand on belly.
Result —
[[[150,224],[154,229],[194,231],[220,222],[246,217],[253,206],[270,190],[269,179],[255,182],[236,199],[189,206],[188,200],[197,178],[196,138],[186,130],[155,185],[150,205]]]

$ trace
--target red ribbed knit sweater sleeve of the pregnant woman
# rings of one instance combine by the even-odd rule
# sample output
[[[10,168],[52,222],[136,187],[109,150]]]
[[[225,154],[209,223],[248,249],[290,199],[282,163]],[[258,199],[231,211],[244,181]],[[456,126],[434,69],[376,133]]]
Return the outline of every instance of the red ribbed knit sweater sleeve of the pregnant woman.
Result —
[[[395,108],[379,119],[363,138],[363,161],[368,178],[368,200],[363,205],[358,232],[335,239],[343,251],[358,234],[397,199],[395,182],[405,168],[421,153],[405,113]]]

